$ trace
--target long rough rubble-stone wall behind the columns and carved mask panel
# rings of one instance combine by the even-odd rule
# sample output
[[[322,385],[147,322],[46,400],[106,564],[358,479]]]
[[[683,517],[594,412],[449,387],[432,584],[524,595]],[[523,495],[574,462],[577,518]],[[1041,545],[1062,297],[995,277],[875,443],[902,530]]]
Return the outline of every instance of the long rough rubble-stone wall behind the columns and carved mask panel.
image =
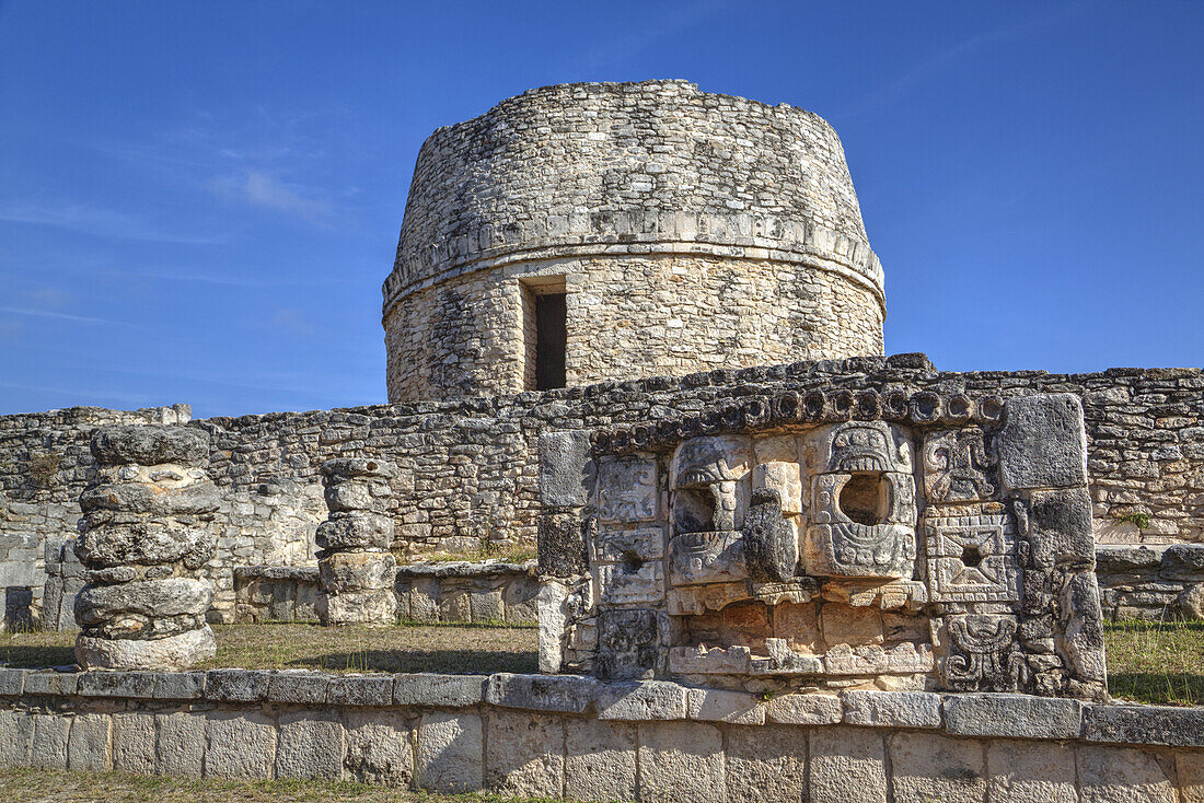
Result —
[[[314,529],[326,513],[318,480],[324,460],[377,456],[399,465],[394,515],[405,543],[397,549],[455,553],[514,539],[533,545],[539,431],[653,420],[783,383],[802,389],[949,388],[1005,396],[1074,392],[1086,418],[1097,539],[1204,542],[1204,372],[1199,368],[950,373],[916,355],[799,362],[458,402],[194,421],[211,432],[209,473],[223,492],[214,618],[234,616],[236,566],[313,563]],[[77,460],[87,451],[90,431],[53,427],[51,419],[0,418],[0,431],[10,433],[0,464],[23,461],[30,444],[40,448],[45,438],[75,438]],[[6,479],[10,496],[0,538],[25,537],[37,544],[37,566],[47,536],[75,532],[78,513],[71,513],[72,500],[83,489],[83,468],[72,470],[79,477],[70,474],[54,491],[63,501],[52,503],[52,509],[66,512],[46,519],[39,518],[46,515],[42,504],[12,501],[7,489],[24,485],[22,471]]]

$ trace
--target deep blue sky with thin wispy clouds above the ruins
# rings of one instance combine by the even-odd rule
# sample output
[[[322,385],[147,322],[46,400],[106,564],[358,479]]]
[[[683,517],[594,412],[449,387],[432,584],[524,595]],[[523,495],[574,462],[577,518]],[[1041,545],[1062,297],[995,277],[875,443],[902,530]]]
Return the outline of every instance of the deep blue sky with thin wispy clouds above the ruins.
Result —
[[[887,353],[1198,366],[1202,42],[1192,0],[0,0],[0,413],[384,402],[421,141],[567,81],[827,118]]]

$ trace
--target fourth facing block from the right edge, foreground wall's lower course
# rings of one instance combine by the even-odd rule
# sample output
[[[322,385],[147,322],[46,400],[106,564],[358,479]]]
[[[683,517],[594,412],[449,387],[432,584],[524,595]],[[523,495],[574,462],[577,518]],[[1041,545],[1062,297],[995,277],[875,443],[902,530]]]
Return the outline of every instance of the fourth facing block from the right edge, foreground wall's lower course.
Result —
[[[932,733],[890,737],[895,799],[923,803],[982,803],[986,767],[982,744]]]

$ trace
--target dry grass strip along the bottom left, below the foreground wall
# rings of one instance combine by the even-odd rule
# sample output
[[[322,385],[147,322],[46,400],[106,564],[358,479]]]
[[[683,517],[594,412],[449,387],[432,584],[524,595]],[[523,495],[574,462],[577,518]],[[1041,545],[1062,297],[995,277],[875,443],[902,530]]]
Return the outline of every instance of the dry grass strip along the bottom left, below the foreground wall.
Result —
[[[125,773],[11,769],[0,772],[0,799],[26,803],[518,803],[520,798],[427,795],[347,781],[189,780]]]

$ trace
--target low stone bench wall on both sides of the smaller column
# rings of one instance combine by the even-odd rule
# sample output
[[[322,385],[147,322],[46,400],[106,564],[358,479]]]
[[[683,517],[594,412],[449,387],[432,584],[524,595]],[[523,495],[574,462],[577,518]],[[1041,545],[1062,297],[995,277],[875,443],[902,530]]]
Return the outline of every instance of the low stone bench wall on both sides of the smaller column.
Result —
[[[244,566],[234,586],[235,621],[317,619],[317,567]],[[399,566],[395,591],[402,620],[533,625],[539,578],[535,561]]]

